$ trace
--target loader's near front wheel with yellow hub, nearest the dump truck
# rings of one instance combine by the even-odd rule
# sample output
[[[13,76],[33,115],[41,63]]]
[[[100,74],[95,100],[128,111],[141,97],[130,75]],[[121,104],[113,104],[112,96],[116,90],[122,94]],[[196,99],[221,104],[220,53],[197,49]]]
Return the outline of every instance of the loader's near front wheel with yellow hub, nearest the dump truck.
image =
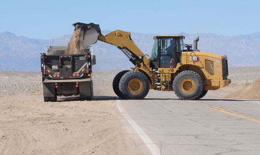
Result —
[[[140,71],[126,72],[119,82],[119,90],[125,99],[143,99],[148,94],[149,89],[149,80]]]

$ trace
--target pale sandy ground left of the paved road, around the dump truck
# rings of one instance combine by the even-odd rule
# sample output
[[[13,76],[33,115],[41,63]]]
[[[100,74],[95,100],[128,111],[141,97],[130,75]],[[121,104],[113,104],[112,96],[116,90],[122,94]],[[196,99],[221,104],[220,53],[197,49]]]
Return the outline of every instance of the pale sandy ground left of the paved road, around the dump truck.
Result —
[[[138,154],[111,100],[114,75],[93,75],[94,101],[45,103],[39,73],[0,72],[0,154]]]

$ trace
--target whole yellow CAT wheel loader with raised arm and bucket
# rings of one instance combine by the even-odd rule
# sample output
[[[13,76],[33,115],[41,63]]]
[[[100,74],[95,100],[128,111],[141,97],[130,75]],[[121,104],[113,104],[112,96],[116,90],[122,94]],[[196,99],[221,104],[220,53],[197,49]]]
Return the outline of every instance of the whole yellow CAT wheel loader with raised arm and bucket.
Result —
[[[135,67],[119,72],[113,81],[117,96],[142,99],[149,89],[174,91],[182,100],[204,97],[208,90],[216,90],[231,83],[228,79],[228,59],[198,50],[199,37],[192,45],[183,43],[183,35],[155,35],[151,56],[145,55],[134,43],[131,33],[115,30],[101,33],[98,24],[75,23],[80,29],[78,44],[85,48],[98,40],[121,50]]]

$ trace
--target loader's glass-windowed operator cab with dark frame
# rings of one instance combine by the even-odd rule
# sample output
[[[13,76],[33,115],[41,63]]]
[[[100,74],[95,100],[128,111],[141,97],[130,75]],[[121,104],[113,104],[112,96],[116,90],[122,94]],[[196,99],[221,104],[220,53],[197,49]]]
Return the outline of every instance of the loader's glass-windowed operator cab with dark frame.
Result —
[[[150,67],[173,68],[180,62],[183,35],[155,35]]]

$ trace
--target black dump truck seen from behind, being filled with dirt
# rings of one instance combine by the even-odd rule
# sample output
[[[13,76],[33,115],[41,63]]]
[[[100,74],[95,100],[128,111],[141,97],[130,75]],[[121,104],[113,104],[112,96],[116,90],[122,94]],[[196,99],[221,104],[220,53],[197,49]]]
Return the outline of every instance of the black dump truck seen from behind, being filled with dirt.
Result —
[[[81,54],[65,54],[67,46],[47,47],[41,53],[41,71],[44,101],[56,102],[57,96],[79,95],[80,100],[91,100],[91,79],[95,55],[92,47],[85,47]]]

